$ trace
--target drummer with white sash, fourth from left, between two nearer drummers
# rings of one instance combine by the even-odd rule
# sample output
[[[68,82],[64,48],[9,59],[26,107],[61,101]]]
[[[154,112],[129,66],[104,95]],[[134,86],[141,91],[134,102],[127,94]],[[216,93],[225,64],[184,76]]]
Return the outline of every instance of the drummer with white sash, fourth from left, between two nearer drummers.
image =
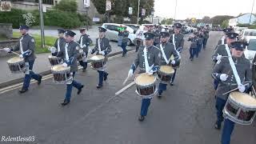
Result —
[[[88,46],[90,46],[92,41],[90,39],[90,35],[86,34],[86,28],[80,29],[80,33],[81,36],[78,43],[80,44],[80,48],[83,50],[84,57],[79,61],[79,63],[82,66],[82,71],[85,72],[87,68]]]

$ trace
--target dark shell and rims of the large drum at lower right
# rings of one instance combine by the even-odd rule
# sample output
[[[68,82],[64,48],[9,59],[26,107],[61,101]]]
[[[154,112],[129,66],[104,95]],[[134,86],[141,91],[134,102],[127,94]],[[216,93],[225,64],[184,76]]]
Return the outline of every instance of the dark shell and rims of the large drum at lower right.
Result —
[[[256,107],[243,106],[229,97],[223,109],[223,116],[231,121],[241,124],[250,125],[255,118]]]

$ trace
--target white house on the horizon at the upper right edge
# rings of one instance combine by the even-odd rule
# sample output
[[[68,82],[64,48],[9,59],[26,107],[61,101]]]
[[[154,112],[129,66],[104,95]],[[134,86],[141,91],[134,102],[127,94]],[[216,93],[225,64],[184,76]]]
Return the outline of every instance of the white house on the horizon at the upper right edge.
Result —
[[[231,18],[229,20],[229,26],[237,26],[238,24],[253,24],[256,21],[256,15],[255,14],[242,14],[239,15],[236,18]]]

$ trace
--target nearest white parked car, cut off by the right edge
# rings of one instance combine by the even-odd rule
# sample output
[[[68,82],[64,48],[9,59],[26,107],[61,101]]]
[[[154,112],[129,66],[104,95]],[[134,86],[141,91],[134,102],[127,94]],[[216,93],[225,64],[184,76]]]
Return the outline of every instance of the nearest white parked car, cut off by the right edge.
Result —
[[[248,46],[246,46],[244,54],[252,62],[256,54],[256,37],[248,39],[247,42]]]

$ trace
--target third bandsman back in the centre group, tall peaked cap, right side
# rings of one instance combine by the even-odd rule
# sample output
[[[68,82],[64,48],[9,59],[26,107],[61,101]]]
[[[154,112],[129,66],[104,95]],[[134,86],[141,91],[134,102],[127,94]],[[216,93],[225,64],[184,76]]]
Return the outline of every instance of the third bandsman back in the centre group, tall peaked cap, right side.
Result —
[[[183,49],[184,46],[184,35],[180,33],[182,30],[182,24],[181,23],[174,23],[174,34],[170,36],[170,42],[174,44],[175,50],[178,50],[180,52]],[[174,78],[176,76],[177,68],[174,67],[174,75],[171,78],[170,86],[174,86]]]

